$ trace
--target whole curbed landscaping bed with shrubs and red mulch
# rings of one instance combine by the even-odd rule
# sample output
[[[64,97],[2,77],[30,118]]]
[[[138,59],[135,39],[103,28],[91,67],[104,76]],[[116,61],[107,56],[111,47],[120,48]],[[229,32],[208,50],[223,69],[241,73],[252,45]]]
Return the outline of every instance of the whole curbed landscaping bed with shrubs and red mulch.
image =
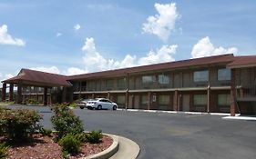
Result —
[[[113,144],[101,131],[84,132],[82,121],[67,107],[53,106],[55,132],[39,124],[41,114],[26,109],[0,106],[0,158],[69,158],[98,154]]]

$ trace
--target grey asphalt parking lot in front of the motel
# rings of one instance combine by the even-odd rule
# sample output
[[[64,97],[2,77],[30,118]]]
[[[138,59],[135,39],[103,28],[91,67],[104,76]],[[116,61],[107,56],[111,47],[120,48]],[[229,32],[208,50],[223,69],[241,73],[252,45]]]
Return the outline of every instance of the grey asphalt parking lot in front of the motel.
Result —
[[[17,106],[15,106],[17,107]],[[48,107],[29,107],[44,114],[51,128]],[[138,158],[256,158],[256,122],[223,120],[210,114],[166,114],[74,109],[85,128],[101,129],[137,142]]]

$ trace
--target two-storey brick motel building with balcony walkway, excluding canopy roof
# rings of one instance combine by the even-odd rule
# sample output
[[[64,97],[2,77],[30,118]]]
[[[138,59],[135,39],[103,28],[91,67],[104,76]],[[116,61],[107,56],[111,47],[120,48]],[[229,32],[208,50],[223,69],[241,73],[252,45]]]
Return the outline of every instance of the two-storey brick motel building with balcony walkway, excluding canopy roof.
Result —
[[[43,103],[46,96],[50,104],[106,97],[125,109],[256,114],[255,55],[217,55],[64,78],[70,85],[52,84],[47,92],[44,84],[23,84],[22,100]]]

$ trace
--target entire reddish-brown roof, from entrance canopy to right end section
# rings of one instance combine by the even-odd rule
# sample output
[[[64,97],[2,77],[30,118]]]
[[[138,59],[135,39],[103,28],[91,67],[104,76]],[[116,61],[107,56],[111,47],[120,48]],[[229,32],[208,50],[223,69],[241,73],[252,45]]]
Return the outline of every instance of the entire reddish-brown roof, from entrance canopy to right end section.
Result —
[[[127,74],[136,74],[142,72],[184,69],[188,67],[198,67],[207,65],[228,65],[230,68],[256,66],[256,55],[234,56],[234,55],[215,55],[209,57],[195,58],[183,61],[161,63],[155,65],[142,65],[130,68],[122,68],[117,70],[108,70],[84,75],[56,75],[41,71],[22,69],[20,73],[3,82],[9,84],[34,84],[39,86],[71,86],[68,80],[79,80],[95,77],[113,77]]]

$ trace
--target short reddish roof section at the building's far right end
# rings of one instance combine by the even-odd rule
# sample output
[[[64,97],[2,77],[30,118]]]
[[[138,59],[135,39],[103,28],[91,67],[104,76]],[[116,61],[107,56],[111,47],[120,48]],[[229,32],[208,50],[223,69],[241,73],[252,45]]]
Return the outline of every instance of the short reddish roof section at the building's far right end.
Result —
[[[228,65],[230,68],[241,68],[248,66],[256,66],[256,55],[236,56],[234,60]]]

